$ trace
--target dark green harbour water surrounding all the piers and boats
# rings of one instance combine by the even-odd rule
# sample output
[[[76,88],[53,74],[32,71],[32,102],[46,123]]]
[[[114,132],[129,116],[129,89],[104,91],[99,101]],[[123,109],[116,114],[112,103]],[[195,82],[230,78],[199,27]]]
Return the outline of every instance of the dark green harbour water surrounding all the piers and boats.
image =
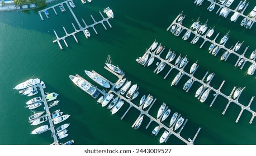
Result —
[[[73,37],[66,39],[69,47],[65,47],[61,42],[63,50],[61,51],[57,43],[53,43],[56,30],[59,36],[64,35],[62,26],[68,32],[73,32],[71,22],[77,26],[72,14],[68,11],[61,13],[56,9],[58,16],[52,9],[49,10],[49,19],[41,21],[37,10],[25,12],[4,12],[0,13],[0,144],[51,144],[53,138],[50,131],[40,135],[31,135],[30,132],[36,128],[27,123],[30,111],[25,109],[25,102],[29,97],[14,94],[12,88],[20,82],[30,77],[39,77],[46,84],[46,91],[58,92],[60,104],[51,109],[61,109],[64,114],[70,114],[70,118],[64,123],[70,123],[68,128],[69,136],[60,142],[74,139],[75,144],[159,144],[160,135],[152,136],[151,131],[156,126],[151,123],[148,129],[145,126],[149,119],[144,118],[142,125],[138,130],[131,128],[131,125],[138,118],[139,111],[131,108],[123,120],[120,120],[122,114],[129,105],[125,104],[117,114],[111,115],[110,111],[96,104],[96,99],[87,95],[85,92],[75,86],[69,79],[69,75],[79,74],[84,76],[84,70],[94,70],[105,76],[110,81],[116,81],[117,78],[110,72],[103,69],[104,62],[108,55],[111,55],[113,64],[119,65],[125,71],[127,79],[132,84],[138,84],[140,95],[135,100],[138,103],[143,94],[151,94],[157,98],[156,103],[150,110],[152,116],[157,115],[159,106],[165,102],[172,109],[181,113],[188,119],[181,136],[183,138],[193,138],[197,129],[202,127],[198,134],[195,144],[256,144],[256,125],[249,124],[251,114],[244,111],[239,123],[235,120],[240,112],[239,106],[230,104],[225,115],[222,115],[227,100],[224,97],[217,97],[214,105],[209,105],[213,99],[209,95],[205,103],[200,103],[195,98],[195,92],[199,84],[194,83],[189,92],[182,90],[183,84],[188,77],[183,76],[177,86],[170,86],[170,82],[176,76],[178,71],[170,72],[167,79],[163,79],[168,72],[169,67],[156,75],[153,73],[156,66],[151,65],[145,68],[135,62],[135,59],[145,52],[151,43],[157,39],[162,42],[167,50],[169,48],[187,55],[189,63],[185,70],[188,71],[193,62],[198,60],[198,69],[195,77],[201,79],[205,72],[215,72],[215,77],[211,85],[219,87],[223,80],[226,80],[222,87],[222,92],[228,95],[234,86],[246,86],[239,101],[247,105],[255,92],[255,76],[246,75],[249,64],[246,63],[243,70],[234,67],[235,56],[230,56],[226,62],[220,61],[222,51],[217,57],[207,52],[210,43],[206,43],[202,49],[199,48],[201,40],[196,45],[183,41],[181,37],[172,35],[166,29],[176,18],[179,12],[183,11],[186,18],[183,21],[184,26],[191,26],[192,20],[200,16],[200,22],[204,23],[208,19],[208,26],[215,26],[216,32],[220,32],[219,41],[227,31],[230,30],[229,40],[226,47],[235,45],[237,41],[244,41],[240,52],[246,46],[249,46],[245,56],[255,50],[255,26],[251,30],[245,30],[239,26],[238,19],[232,23],[229,19],[224,19],[214,12],[208,12],[206,8],[210,3],[203,2],[202,6],[197,7],[193,1],[103,1],[97,0],[92,3],[82,4],[80,1],[74,1],[77,6],[73,9],[80,23],[83,18],[87,24],[93,23],[90,14],[96,20],[101,16],[98,11],[103,13],[103,8],[112,8],[115,18],[110,19],[113,28],[107,24],[107,31],[97,25],[96,35],[92,28],[91,38],[86,39],[83,33],[77,33],[76,37],[79,43],[76,43]],[[235,7],[239,2],[234,2],[231,7]],[[56,3],[54,3],[56,4]],[[245,14],[249,13],[256,2],[250,1]],[[50,4],[51,6],[53,4]],[[67,6],[64,7],[67,8]],[[104,14],[105,15],[105,14]],[[231,15],[228,16],[230,18]],[[83,25],[82,25],[83,26]],[[78,26],[77,26],[78,27]],[[85,75],[85,79],[89,78]],[[91,80],[89,80],[91,81]],[[92,81],[91,81],[92,82]],[[92,82],[93,83],[93,82]],[[93,83],[94,84],[94,83]],[[250,106],[256,110],[255,100]],[[37,110],[42,110],[39,108]],[[169,118],[165,121],[168,124]],[[61,124],[60,124],[61,125]],[[59,126],[59,125],[57,125]],[[167,144],[184,144],[181,140],[171,136]]]

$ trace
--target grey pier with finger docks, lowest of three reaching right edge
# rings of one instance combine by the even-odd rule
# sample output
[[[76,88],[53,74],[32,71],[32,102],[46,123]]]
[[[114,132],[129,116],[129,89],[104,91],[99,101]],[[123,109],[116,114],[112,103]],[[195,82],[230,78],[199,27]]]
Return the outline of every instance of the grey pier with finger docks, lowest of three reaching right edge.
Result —
[[[220,91],[222,85],[224,85],[225,80],[222,82],[222,84],[220,85],[219,89],[214,89],[214,87],[210,86],[210,82],[211,82],[211,80],[212,80],[212,78],[213,78],[214,76],[212,76],[211,79],[210,79],[208,82],[205,83],[203,80],[205,79],[205,77],[206,77],[207,74],[203,77],[202,80],[197,79],[195,76],[193,76],[193,75],[191,75],[191,74],[188,74],[188,72],[184,71],[183,69],[180,69],[180,68],[178,67],[178,64],[177,64],[177,65],[170,64],[170,62],[169,62],[168,60],[164,60],[164,59],[161,58],[159,55],[155,55],[154,52],[151,52],[151,51],[150,51],[150,49],[151,49],[152,46],[153,46],[153,44],[148,48],[148,50],[144,53],[143,56],[145,56],[147,53],[149,53],[149,54],[151,55],[151,57],[158,58],[158,59],[161,61],[160,64],[162,64],[163,62],[165,62],[165,64],[169,65],[169,66],[171,67],[171,69],[176,69],[176,70],[178,70],[179,72],[181,72],[182,75],[187,75],[189,78],[192,79],[192,84],[193,84],[193,82],[197,81],[197,82],[199,82],[201,85],[204,85],[204,86],[205,86],[205,89],[208,87],[208,88],[210,88],[210,90],[216,92],[215,98],[214,98],[214,100],[212,100],[210,106],[212,106],[212,104],[214,104],[214,101],[216,100],[216,97],[217,97],[218,95],[221,95],[221,96],[225,97],[229,102],[227,103],[227,106],[226,106],[226,108],[225,108],[225,110],[224,110],[224,113],[222,113],[222,114],[225,114],[225,111],[226,111],[226,109],[228,108],[228,106],[229,106],[230,103],[234,103],[234,104],[240,106],[241,111],[240,111],[240,114],[239,114],[238,118],[236,119],[236,123],[238,123],[238,120],[239,120],[239,118],[240,118],[240,116],[241,116],[241,114],[243,113],[244,110],[249,111],[250,113],[252,113],[252,119],[250,120],[249,123],[252,124],[252,121],[253,121],[253,119],[254,119],[254,116],[256,116],[256,112],[253,111],[252,109],[250,109],[250,104],[252,103],[252,101],[253,101],[253,99],[254,99],[254,96],[253,96],[252,99],[250,100],[248,106],[244,106],[243,104],[240,104],[239,101],[238,101],[240,95],[239,95],[236,99],[233,99],[233,98],[232,98],[233,92],[235,91],[236,87],[234,87],[233,91],[231,91],[231,94],[227,96],[227,95],[223,94],[223,93]],[[143,56],[142,56],[142,57],[143,57]],[[141,58],[142,58],[142,57],[141,57]],[[160,66],[160,64],[159,64],[159,66]],[[158,69],[158,67],[157,67],[157,69]],[[207,71],[207,73],[208,73],[208,71]],[[169,74],[169,72],[168,72],[168,74]],[[167,76],[167,75],[165,75],[165,77],[166,77],[166,76]],[[178,83],[178,82],[176,82],[176,83]],[[192,86],[192,84],[190,85],[190,87]],[[188,87],[188,89],[187,89],[186,91],[188,91],[190,87]],[[202,91],[202,92],[203,92],[203,91]],[[202,93],[201,93],[201,94],[202,94]],[[240,93],[240,94],[241,94],[241,93]],[[200,95],[200,96],[201,96],[201,95]]]

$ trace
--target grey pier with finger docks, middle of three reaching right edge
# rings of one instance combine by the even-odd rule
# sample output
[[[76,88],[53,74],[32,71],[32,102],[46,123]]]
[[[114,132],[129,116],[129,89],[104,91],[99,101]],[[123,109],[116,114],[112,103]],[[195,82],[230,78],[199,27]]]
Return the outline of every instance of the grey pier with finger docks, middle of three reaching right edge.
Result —
[[[225,47],[225,43],[226,43],[227,40],[226,40],[222,45],[220,45],[219,43],[215,42],[217,36],[219,36],[219,33],[217,34],[217,36],[215,37],[214,40],[210,40],[209,38],[206,37],[206,34],[207,34],[207,33],[205,33],[205,35],[201,35],[200,33],[197,33],[196,31],[192,31],[192,30],[190,30],[189,28],[187,28],[187,27],[185,27],[185,26],[182,26],[181,22],[176,22],[177,19],[178,19],[180,16],[182,16],[182,14],[178,14],[178,16],[176,17],[176,19],[174,19],[174,21],[173,21],[173,22],[170,24],[170,26],[167,28],[167,31],[169,31],[169,30],[170,30],[170,27],[172,27],[173,25],[177,25],[176,30],[177,30],[178,27],[182,27],[181,32],[182,32],[183,30],[185,30],[186,32],[190,31],[192,34],[194,34],[195,37],[193,38],[193,40],[195,40],[196,36],[201,37],[204,41],[203,41],[202,45],[200,46],[200,48],[202,48],[202,46],[204,45],[204,43],[205,43],[206,41],[208,41],[208,42],[214,44],[215,46],[218,46],[218,47],[219,47],[218,50],[217,50],[217,52],[219,52],[221,48],[224,49],[225,51],[228,51],[228,55],[226,56],[225,61],[227,60],[227,58],[228,58],[228,57],[230,56],[230,54],[232,54],[232,53],[233,53],[234,55],[238,56],[238,61],[236,62],[235,66],[238,64],[239,60],[243,59],[244,62],[243,62],[243,65],[240,67],[240,69],[243,69],[243,66],[244,66],[244,64],[245,64],[246,62],[250,62],[251,64],[254,64],[254,66],[256,66],[256,62],[255,62],[255,58],[256,58],[256,57],[255,57],[253,60],[250,60],[249,58],[246,58],[246,57],[244,56],[244,54],[245,54],[245,52],[247,51],[248,47],[245,48],[243,54],[241,54],[241,55],[240,55],[239,53],[235,52],[235,47],[236,47],[236,45],[238,45],[239,43],[242,44],[243,42],[237,42],[236,45],[235,45],[232,49],[226,48],[226,47]],[[184,17],[183,17],[183,19],[184,19]],[[183,20],[183,19],[182,19],[182,20]],[[174,30],[172,33],[174,33],[176,30]],[[181,33],[181,32],[180,32],[180,33]],[[178,35],[177,35],[177,36],[178,36]],[[193,40],[191,41],[191,43],[193,42]],[[210,52],[211,52],[211,51],[210,51]],[[215,53],[215,56],[217,55],[217,52]],[[254,74],[254,72],[253,72],[253,74]],[[252,74],[252,75],[253,75],[253,74]]]

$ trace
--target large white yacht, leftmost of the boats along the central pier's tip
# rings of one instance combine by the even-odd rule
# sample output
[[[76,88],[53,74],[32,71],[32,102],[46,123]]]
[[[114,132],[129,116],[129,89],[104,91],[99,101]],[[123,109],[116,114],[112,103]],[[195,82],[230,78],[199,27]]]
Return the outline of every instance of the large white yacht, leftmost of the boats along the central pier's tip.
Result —
[[[99,95],[99,91],[96,87],[89,84],[87,81],[80,79],[80,77],[69,75],[70,80],[77,85],[80,89],[87,92],[87,94],[91,95],[94,99],[96,99]]]

